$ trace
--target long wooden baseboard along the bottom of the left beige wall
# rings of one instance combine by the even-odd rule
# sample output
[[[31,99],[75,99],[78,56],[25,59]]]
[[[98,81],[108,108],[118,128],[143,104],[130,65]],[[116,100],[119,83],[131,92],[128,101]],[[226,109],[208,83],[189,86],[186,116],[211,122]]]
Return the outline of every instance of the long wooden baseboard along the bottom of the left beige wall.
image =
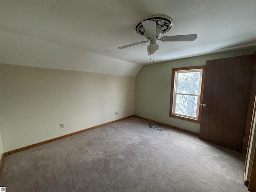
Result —
[[[118,121],[130,118],[132,116],[134,116],[134,115],[124,117],[124,118],[121,118],[121,119],[118,119],[118,120],[110,121],[110,122],[107,122],[107,123],[104,123],[104,124],[96,125],[96,126],[93,126],[93,127],[87,128],[87,129],[76,131],[76,132],[66,134],[66,135],[63,135],[63,136],[60,136],[60,137],[52,138],[52,139],[49,139],[49,140],[46,140],[46,141],[42,141],[42,142],[35,143],[35,144],[29,145],[29,146],[25,146],[25,147],[22,147],[22,148],[14,149],[14,150],[11,150],[11,151],[8,151],[8,152],[4,152],[3,155],[7,156],[7,155],[10,155],[10,154],[20,152],[20,151],[24,151],[24,150],[27,150],[27,149],[30,149],[30,148],[33,148],[33,147],[36,147],[36,146],[40,146],[40,145],[50,143],[50,142],[53,142],[53,141],[56,141],[56,140],[59,140],[59,139],[63,139],[63,138],[66,138],[66,137],[69,137],[69,136],[72,136],[72,135],[76,135],[76,134],[79,134],[79,133],[82,133],[82,132],[85,132],[85,131],[88,131],[88,130],[92,130],[92,129],[95,129],[95,128],[98,128],[98,127],[101,127],[101,126],[104,126],[104,125],[108,125],[108,124],[111,124],[111,123],[114,123],[114,122],[118,122]],[[2,158],[3,158],[3,155],[2,155]],[[2,160],[2,158],[1,158],[1,160]],[[0,164],[1,164],[1,161],[0,161]]]

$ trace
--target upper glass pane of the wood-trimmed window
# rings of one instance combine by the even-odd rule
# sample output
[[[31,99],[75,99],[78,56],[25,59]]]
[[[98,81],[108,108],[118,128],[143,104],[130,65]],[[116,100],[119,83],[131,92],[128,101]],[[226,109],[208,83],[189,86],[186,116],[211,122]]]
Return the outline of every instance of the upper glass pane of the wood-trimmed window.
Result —
[[[176,93],[198,94],[201,72],[177,72]]]

